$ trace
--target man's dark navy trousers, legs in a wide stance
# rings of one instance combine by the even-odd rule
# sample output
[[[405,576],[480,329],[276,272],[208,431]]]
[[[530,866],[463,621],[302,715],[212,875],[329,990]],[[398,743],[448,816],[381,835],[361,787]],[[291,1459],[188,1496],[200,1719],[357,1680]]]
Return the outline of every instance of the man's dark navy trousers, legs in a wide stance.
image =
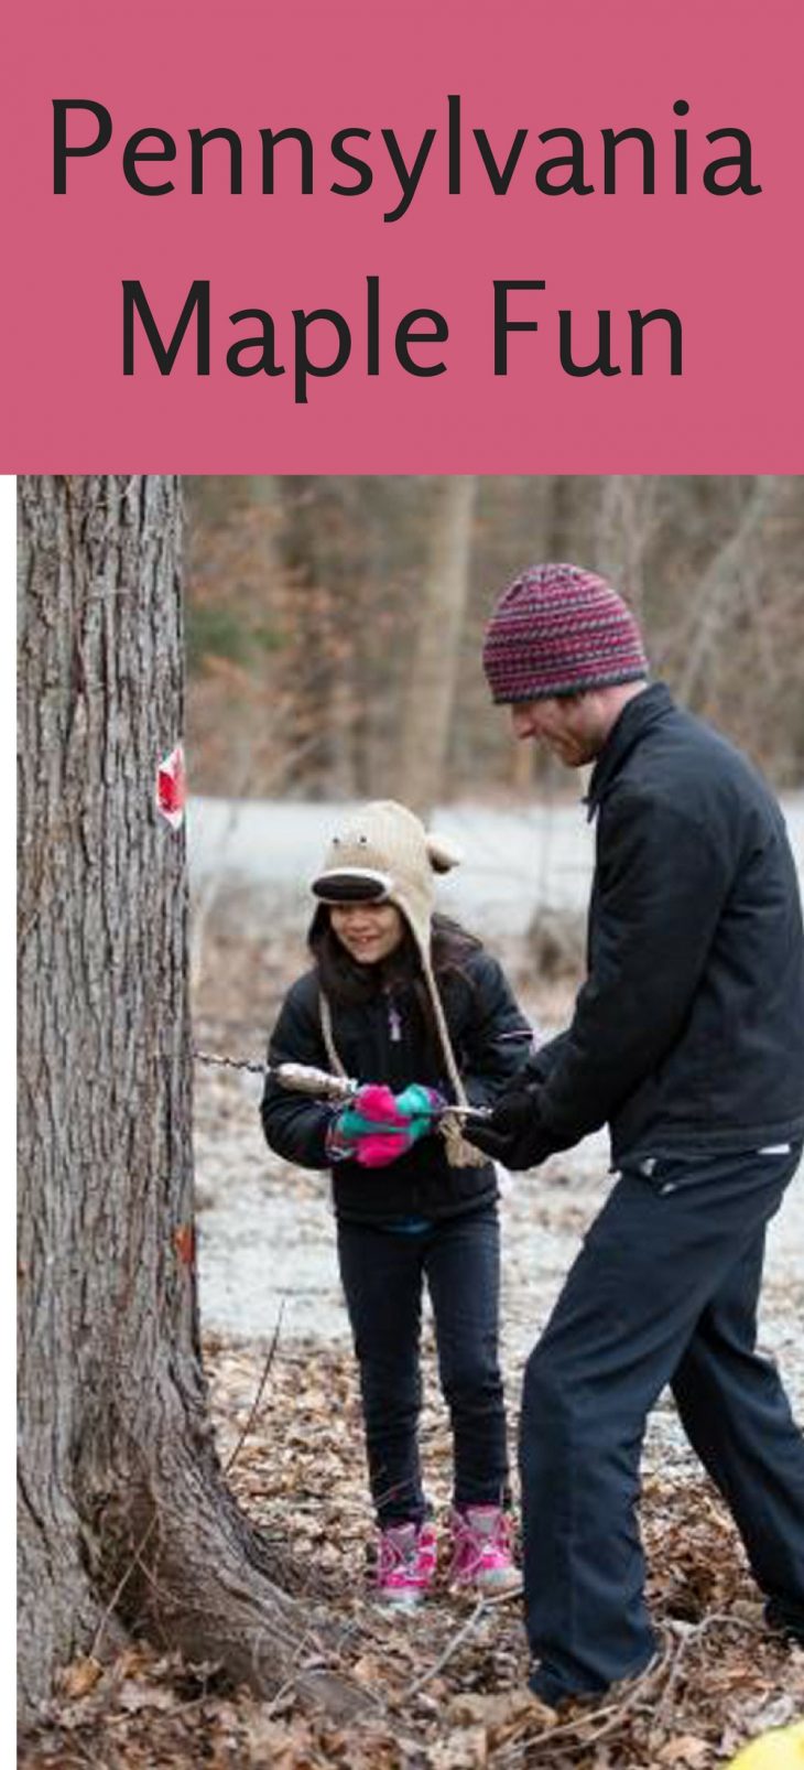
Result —
[[[530,1354],[525,1604],[532,1685],[548,1703],[603,1690],[654,1651],[634,1506],[666,1382],[769,1614],[804,1628],[804,1441],[755,1349],[765,1225],[799,1158],[624,1168]]]

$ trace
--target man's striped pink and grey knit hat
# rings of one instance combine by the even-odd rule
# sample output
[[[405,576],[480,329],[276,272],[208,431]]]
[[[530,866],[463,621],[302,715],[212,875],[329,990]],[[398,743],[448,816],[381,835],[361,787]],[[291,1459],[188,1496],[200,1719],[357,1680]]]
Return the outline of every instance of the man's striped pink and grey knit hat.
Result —
[[[532,565],[504,589],[482,667],[495,701],[583,694],[649,673],[631,609],[595,572]]]

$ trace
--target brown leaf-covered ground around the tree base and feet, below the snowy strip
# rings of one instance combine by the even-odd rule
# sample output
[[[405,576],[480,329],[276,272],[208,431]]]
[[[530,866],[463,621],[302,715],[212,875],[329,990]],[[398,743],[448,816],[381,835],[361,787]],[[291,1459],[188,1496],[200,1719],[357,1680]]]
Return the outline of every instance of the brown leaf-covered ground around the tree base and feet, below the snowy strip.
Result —
[[[765,1630],[717,1496],[689,1473],[654,1469],[643,1533],[659,1664],[620,1703],[544,1729],[527,1696],[518,1600],[474,1604],[442,1588],[413,1616],[373,1602],[348,1352],[279,1338],[253,1416],[265,1363],[263,1345],[207,1345],[221,1455],[237,1451],[231,1485],[283,1559],[290,1552],[311,1620],[323,1609],[338,1621],[339,1666],[366,1696],[366,1715],[348,1726],[306,1715],[292,1683],[258,1703],[223,1689],[214,1666],[133,1646],[67,1669],[23,1747],[25,1770],[710,1770],[804,1713],[804,1651]],[[424,1453],[445,1515],[449,1437],[431,1349]],[[311,1627],[306,1662],[315,1658]]]

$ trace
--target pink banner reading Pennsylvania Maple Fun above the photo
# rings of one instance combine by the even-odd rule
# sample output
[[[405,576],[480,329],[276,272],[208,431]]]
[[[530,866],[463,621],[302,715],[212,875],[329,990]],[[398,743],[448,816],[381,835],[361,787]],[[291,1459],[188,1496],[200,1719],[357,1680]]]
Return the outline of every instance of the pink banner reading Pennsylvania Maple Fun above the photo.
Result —
[[[2,469],[795,473],[799,0],[30,0]]]

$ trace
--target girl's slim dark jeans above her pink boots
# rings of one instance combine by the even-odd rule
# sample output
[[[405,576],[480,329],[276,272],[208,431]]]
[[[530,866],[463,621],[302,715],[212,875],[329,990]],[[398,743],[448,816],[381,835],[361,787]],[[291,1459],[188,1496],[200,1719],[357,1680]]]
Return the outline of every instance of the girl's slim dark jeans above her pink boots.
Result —
[[[382,1177],[378,1177],[382,1184]],[[497,1205],[413,1234],[338,1225],[338,1253],[360,1366],[371,1496],[385,1528],[428,1515],[419,1466],[421,1315],[429,1290],[438,1375],[451,1412],[454,1504],[507,1499],[497,1333]]]

